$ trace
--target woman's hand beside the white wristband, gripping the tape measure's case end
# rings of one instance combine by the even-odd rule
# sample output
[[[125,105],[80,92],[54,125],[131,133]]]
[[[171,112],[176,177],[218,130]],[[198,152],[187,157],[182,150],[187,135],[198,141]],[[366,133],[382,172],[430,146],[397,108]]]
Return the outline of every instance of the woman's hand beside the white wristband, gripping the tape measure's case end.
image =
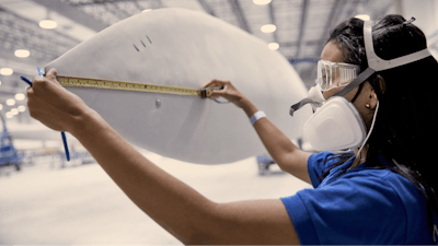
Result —
[[[210,91],[207,96],[211,99],[222,96],[240,108],[247,106],[247,98],[239,92],[230,81],[212,80],[204,85],[204,87],[223,87],[222,90]]]

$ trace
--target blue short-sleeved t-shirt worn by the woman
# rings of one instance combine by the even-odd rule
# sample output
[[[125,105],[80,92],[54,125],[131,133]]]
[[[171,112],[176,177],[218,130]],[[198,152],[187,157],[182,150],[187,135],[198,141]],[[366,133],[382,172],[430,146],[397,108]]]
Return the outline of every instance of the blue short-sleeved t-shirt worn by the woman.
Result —
[[[436,245],[426,200],[408,179],[365,163],[338,177],[351,166],[351,157],[320,181],[325,167],[337,161],[324,163],[330,155],[309,157],[314,189],[281,198],[302,245]]]

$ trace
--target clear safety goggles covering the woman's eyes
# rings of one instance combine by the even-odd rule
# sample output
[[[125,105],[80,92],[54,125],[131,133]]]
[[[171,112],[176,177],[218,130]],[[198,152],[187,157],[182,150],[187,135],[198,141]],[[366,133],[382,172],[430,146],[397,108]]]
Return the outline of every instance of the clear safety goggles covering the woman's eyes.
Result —
[[[359,69],[357,65],[319,60],[315,82],[321,85],[322,91],[328,91],[351,82],[359,74]]]

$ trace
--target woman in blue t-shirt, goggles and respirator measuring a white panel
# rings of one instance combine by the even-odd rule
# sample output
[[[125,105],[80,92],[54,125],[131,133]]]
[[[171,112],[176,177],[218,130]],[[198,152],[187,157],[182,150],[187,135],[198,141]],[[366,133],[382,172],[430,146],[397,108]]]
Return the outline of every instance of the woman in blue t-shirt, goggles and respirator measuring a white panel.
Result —
[[[314,187],[280,199],[208,200],[138,153],[57,83],[56,70],[34,78],[27,104],[32,117],[78,138],[142,211],[186,245],[435,245],[438,63],[424,34],[400,15],[373,24],[350,19],[331,33],[321,59],[313,92],[322,94],[306,102],[322,105],[314,116],[357,115],[335,121],[359,129],[353,152],[301,151],[230,82],[206,85],[223,86],[211,98],[242,108],[281,169]],[[325,138],[321,149],[351,148],[335,140]]]

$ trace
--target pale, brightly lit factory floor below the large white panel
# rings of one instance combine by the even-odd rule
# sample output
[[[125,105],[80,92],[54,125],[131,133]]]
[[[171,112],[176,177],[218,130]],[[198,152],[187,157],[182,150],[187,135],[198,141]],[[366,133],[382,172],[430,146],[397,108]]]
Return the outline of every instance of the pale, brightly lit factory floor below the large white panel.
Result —
[[[255,157],[196,165],[143,154],[216,202],[291,196],[308,184]],[[38,163],[0,176],[0,245],[182,245],[114,184],[97,164]]]

